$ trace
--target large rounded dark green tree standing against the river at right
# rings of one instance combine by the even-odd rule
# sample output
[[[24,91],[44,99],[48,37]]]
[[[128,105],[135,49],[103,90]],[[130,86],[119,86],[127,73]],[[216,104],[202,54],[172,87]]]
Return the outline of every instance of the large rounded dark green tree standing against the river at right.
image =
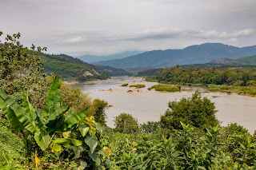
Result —
[[[169,102],[168,105],[170,109],[167,109],[165,115],[161,116],[162,128],[181,129],[181,121],[196,128],[218,125],[214,103],[207,97],[202,98],[198,91],[192,94],[192,97],[183,97],[180,101]]]

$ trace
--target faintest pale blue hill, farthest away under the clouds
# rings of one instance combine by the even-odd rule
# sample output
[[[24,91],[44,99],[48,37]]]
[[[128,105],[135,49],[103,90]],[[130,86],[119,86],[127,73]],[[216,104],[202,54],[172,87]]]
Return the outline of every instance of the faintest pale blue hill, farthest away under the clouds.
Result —
[[[138,53],[144,53],[144,51],[126,51],[123,53],[115,53],[115,54],[109,55],[109,56],[95,56],[95,55],[87,54],[87,55],[79,56],[77,58],[82,61],[88,62],[88,63],[93,63],[93,62],[98,62],[98,61],[122,59],[124,57],[137,55]]]

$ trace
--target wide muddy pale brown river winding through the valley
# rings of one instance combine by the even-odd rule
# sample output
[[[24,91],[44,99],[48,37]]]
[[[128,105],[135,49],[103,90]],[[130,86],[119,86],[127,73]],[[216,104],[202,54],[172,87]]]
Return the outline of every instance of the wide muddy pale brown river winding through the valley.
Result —
[[[122,84],[144,84],[142,92],[137,89],[122,87]],[[246,97],[236,94],[208,93],[206,88],[182,86],[182,92],[168,93],[147,90],[156,82],[146,82],[141,77],[112,77],[106,81],[90,81],[73,85],[80,88],[82,93],[89,93],[92,98],[99,98],[113,105],[106,110],[107,125],[114,127],[113,119],[120,113],[130,113],[138,119],[139,123],[146,121],[159,121],[160,116],[168,109],[169,101],[179,101],[182,97],[191,97],[196,90],[202,97],[213,101],[218,112],[216,116],[222,125],[238,123],[247,128],[250,133],[256,129],[256,97]],[[111,90],[110,90],[111,89]],[[134,90],[127,93],[127,90]]]

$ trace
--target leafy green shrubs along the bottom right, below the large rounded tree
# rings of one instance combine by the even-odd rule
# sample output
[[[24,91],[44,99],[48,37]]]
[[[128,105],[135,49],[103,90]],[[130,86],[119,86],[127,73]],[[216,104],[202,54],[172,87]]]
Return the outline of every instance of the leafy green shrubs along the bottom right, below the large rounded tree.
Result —
[[[134,136],[107,136],[110,169],[254,169],[255,136],[246,133],[228,138],[218,126],[199,132],[182,124],[173,137],[156,131]],[[234,152],[231,152],[234,151]]]

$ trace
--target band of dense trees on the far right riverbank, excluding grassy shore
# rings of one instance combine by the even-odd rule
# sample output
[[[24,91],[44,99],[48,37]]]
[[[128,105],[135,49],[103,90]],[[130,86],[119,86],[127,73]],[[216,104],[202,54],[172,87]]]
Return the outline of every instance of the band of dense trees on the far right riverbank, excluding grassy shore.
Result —
[[[256,81],[254,69],[222,66],[212,69],[165,68],[154,77],[158,82],[171,84],[215,84],[215,85],[251,85]]]

